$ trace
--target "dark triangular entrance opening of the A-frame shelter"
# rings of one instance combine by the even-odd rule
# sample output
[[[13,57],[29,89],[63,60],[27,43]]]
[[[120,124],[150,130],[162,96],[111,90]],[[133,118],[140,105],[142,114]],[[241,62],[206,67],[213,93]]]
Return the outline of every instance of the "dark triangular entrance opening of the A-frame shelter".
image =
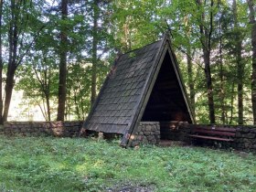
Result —
[[[192,123],[185,101],[186,93],[182,91],[183,85],[178,78],[175,65],[167,51],[141,120],[160,122],[161,139],[170,138],[167,129],[172,127],[168,123]]]

